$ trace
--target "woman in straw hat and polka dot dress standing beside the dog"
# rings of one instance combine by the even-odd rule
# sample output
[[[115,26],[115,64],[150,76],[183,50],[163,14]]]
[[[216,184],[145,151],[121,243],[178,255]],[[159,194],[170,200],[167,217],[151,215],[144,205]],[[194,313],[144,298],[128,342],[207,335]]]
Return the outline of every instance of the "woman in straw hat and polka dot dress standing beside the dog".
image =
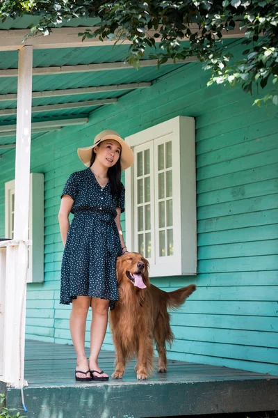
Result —
[[[76,350],[76,380],[108,380],[98,356],[108,321],[108,307],[119,299],[115,263],[126,246],[120,214],[124,212],[121,171],[133,164],[133,152],[117,132],[104,130],[94,144],[79,148],[87,169],[72,173],[63,189],[58,215],[65,247],[60,303],[70,304],[70,332]],[[74,219],[70,225],[70,212]],[[92,308],[90,358],[85,356],[85,322]]]

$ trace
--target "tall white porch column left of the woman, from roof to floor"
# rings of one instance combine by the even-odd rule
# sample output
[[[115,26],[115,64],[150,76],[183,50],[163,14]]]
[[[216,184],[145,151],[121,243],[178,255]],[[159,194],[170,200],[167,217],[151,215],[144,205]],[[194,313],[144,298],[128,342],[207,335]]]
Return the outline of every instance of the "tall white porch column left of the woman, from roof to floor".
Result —
[[[26,268],[31,151],[33,47],[19,49],[17,139],[15,152],[15,224],[7,247],[3,378],[20,387],[24,378]]]

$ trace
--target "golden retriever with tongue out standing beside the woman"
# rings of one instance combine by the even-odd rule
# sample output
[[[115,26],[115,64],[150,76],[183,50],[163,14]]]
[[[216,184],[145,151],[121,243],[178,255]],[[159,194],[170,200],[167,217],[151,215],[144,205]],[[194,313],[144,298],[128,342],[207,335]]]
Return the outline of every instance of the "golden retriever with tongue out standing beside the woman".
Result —
[[[122,378],[126,361],[133,357],[137,357],[137,378],[147,379],[153,370],[154,341],[158,372],[167,370],[166,343],[174,340],[167,308],[177,309],[196,289],[190,284],[164,292],[150,284],[148,269],[149,262],[139,253],[129,252],[117,258],[120,300],[109,315],[116,351],[114,379]]]

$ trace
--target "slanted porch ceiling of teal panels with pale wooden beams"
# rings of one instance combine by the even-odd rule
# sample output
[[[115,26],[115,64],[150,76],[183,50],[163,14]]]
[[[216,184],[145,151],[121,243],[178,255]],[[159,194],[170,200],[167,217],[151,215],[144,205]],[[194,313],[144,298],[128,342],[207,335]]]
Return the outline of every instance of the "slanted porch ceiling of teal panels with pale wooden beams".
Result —
[[[7,19],[3,23],[0,22],[0,157],[10,150],[9,144],[15,144],[18,53],[12,49],[23,46],[21,40],[24,33],[27,33],[28,26],[38,19],[38,16],[24,15],[16,20]],[[49,130],[60,129],[61,125],[76,124],[77,120],[78,123],[87,123],[88,116],[99,107],[114,106],[117,100],[131,93],[133,89],[148,88],[159,77],[188,65],[188,62],[184,61],[176,64],[168,61],[158,70],[156,61],[147,58],[149,49],[140,69],[135,70],[129,64],[124,64],[129,45],[114,47],[113,42],[101,42],[99,45],[99,41],[95,40],[90,46],[85,46],[86,43],[82,42],[81,45],[81,38],[76,35],[79,29],[72,28],[80,26],[82,31],[85,27],[96,26],[98,22],[97,19],[74,19],[60,25],[64,27],[54,29],[55,33],[51,33],[50,36],[40,36],[39,40],[37,38],[33,41],[33,92],[36,93],[33,94],[32,100],[32,139]],[[231,37],[229,33],[227,36]],[[44,45],[46,38],[48,46]],[[76,38],[79,38],[77,43]],[[229,38],[224,40],[226,45],[234,42]],[[55,47],[56,45],[58,47]],[[158,44],[156,48],[159,52]],[[196,59],[193,57],[188,61]],[[111,68],[111,65],[114,68]],[[111,86],[109,91],[108,86]],[[89,90],[78,91],[79,88]],[[92,88],[97,88],[97,91],[92,91]],[[45,123],[38,132],[34,127],[41,121],[61,121],[61,125],[56,123],[54,127]],[[5,134],[6,130],[10,130],[7,128],[10,124],[13,125],[13,131]]]

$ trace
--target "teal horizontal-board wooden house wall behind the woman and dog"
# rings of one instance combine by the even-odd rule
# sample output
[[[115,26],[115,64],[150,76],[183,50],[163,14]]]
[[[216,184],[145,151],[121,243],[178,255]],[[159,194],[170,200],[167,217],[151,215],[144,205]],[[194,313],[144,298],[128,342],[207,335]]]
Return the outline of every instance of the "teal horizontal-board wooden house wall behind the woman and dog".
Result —
[[[45,282],[28,285],[26,338],[70,343],[70,307],[58,302],[57,214],[65,180],[83,169],[76,148],[103,129],[126,137],[174,116],[195,116],[199,274],[152,280],[165,291],[198,286],[172,314],[176,341],[168,357],[278,374],[278,109],[252,107],[238,88],[207,88],[207,81],[201,65],[191,63],[98,109],[88,125],[32,142],[31,171],[45,179]],[[0,236],[4,183],[14,178],[14,164],[11,150],[0,161]],[[109,332],[104,348],[113,348]]]

